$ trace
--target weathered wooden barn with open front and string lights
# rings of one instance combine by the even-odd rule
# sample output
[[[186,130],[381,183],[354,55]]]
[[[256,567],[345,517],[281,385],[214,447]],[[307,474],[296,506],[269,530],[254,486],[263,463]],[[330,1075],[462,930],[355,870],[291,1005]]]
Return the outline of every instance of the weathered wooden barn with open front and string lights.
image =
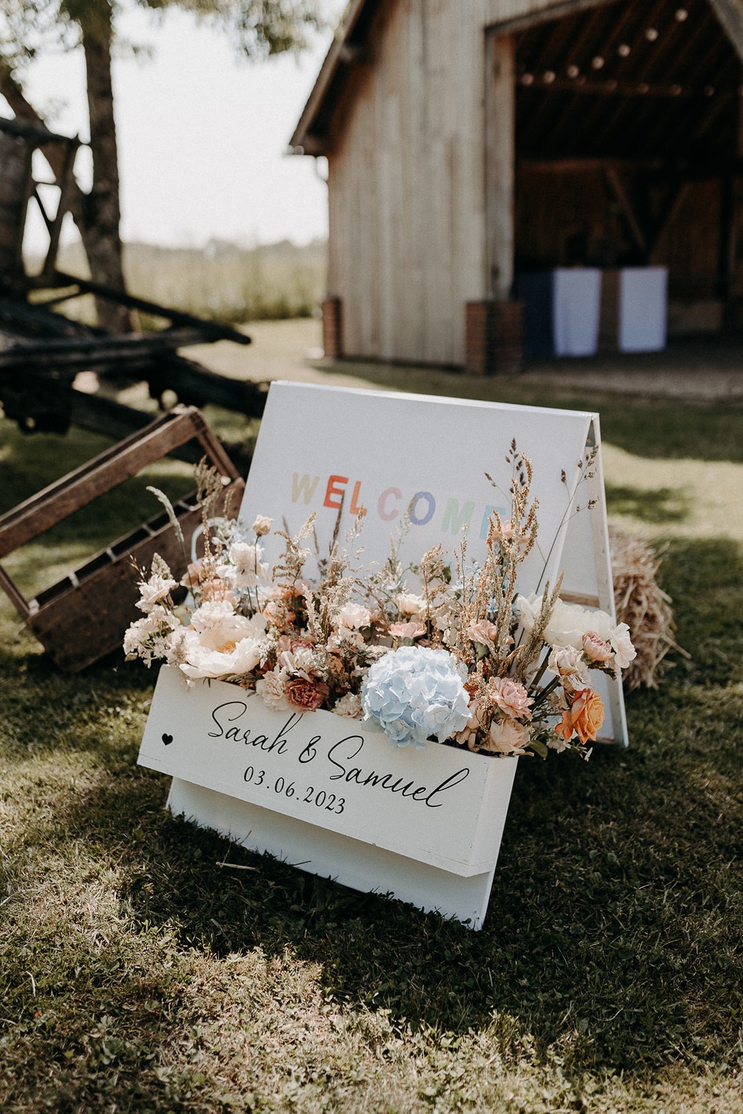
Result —
[[[325,351],[489,373],[540,299],[600,297],[610,346],[633,290],[663,339],[735,324],[742,59],[743,0],[353,0],[291,140],[327,158]]]

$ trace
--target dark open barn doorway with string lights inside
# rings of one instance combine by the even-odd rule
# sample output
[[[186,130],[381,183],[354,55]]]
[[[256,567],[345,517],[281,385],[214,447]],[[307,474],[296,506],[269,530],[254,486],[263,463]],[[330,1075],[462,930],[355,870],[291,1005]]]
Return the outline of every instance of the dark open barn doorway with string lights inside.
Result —
[[[655,267],[669,336],[743,323],[743,71],[714,7],[576,3],[512,30],[517,290],[595,268],[606,301],[623,268]]]

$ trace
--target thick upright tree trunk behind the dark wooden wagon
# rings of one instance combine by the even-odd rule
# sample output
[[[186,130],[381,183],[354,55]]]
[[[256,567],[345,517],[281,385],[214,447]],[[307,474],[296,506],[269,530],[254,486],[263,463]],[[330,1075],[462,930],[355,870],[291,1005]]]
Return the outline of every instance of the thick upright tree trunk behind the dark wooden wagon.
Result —
[[[111,12],[84,23],[82,49],[88,81],[92,186],[84,196],[80,228],[90,274],[95,282],[124,290],[119,233],[119,169],[111,86]],[[116,333],[131,332],[131,313],[123,305],[96,299],[98,324]]]

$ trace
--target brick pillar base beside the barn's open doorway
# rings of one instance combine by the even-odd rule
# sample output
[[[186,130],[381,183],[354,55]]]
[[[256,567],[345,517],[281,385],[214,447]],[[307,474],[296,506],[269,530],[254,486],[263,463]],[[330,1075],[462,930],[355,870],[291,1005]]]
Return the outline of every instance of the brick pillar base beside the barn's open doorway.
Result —
[[[465,371],[468,375],[514,374],[524,355],[521,302],[467,302]]]

